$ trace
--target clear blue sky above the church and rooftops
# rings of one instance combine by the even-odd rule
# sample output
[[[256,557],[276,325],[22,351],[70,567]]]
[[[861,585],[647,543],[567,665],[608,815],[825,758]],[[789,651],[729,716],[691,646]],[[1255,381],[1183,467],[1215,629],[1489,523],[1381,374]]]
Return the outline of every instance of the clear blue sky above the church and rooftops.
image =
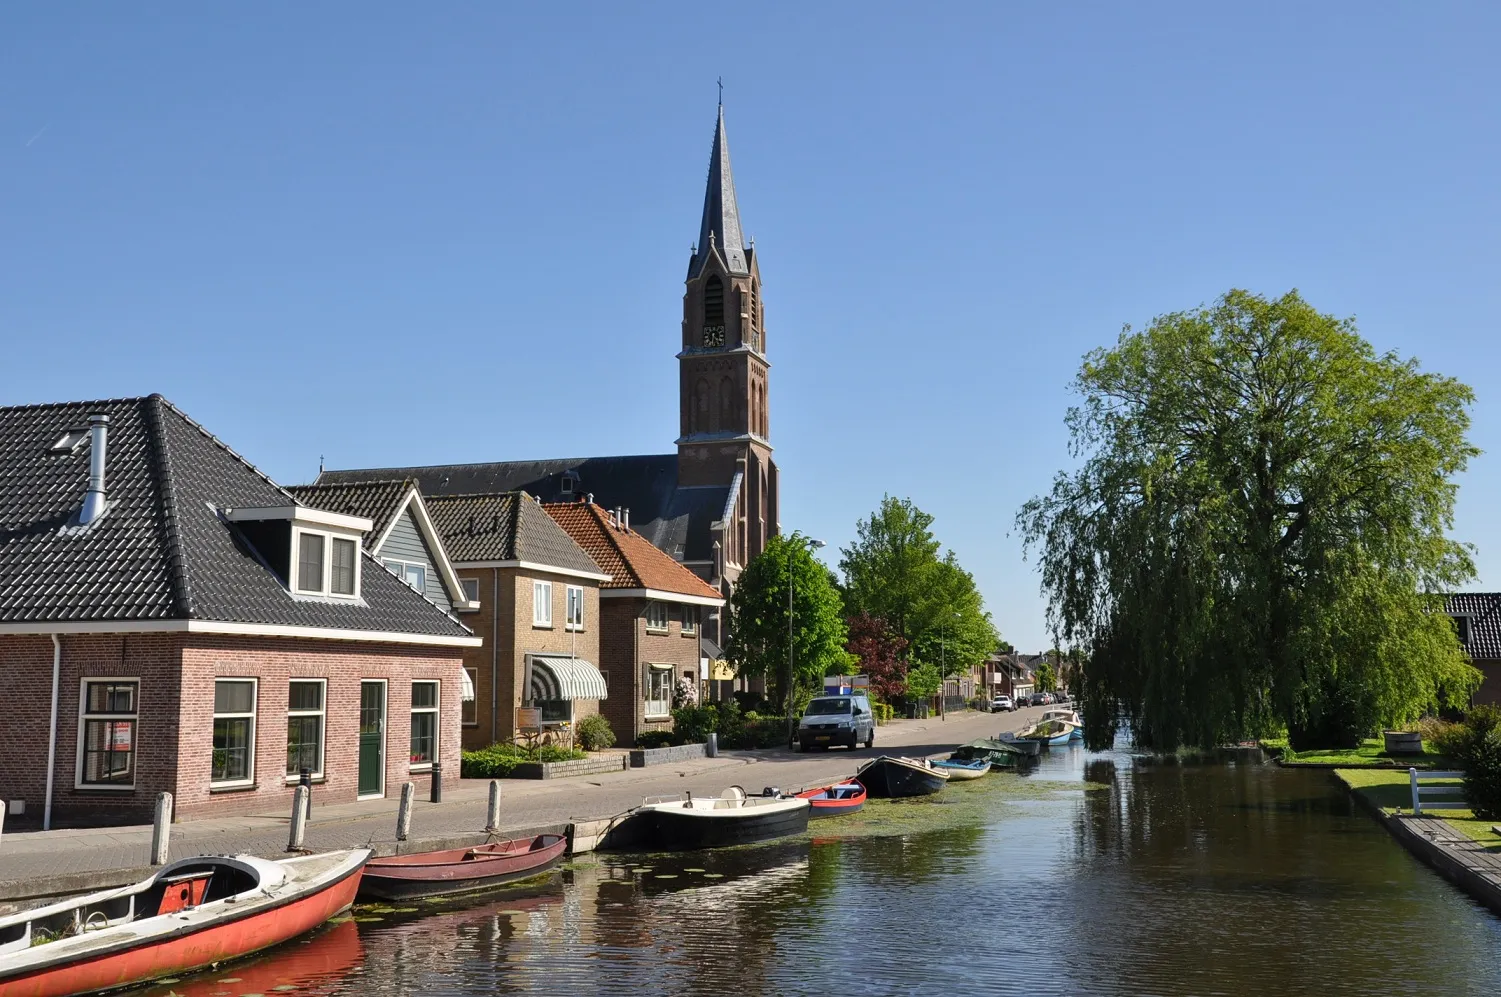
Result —
[[[725,80],[784,527],[1012,520],[1124,323],[1297,287],[1478,393],[1501,586],[1495,5],[9,5],[0,404],[159,390],[282,482],[668,452]]]

